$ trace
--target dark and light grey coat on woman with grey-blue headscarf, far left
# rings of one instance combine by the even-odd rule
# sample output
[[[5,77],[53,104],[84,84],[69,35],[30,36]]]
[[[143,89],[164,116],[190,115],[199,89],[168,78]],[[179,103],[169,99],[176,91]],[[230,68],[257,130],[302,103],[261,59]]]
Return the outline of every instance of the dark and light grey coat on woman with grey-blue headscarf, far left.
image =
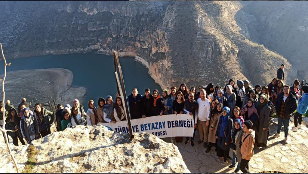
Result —
[[[27,143],[30,144],[35,136],[39,135],[39,124],[36,117],[33,115],[23,116],[20,120],[20,132]]]

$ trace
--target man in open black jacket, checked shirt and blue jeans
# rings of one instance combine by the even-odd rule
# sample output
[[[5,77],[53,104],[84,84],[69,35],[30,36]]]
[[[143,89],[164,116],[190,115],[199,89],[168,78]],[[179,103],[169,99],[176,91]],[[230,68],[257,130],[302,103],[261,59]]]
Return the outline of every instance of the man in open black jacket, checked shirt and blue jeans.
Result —
[[[285,130],[285,143],[288,144],[289,121],[291,114],[296,110],[296,98],[290,93],[290,86],[283,86],[283,93],[278,94],[276,99],[276,112],[278,115],[278,130],[275,138],[280,136],[282,124]]]

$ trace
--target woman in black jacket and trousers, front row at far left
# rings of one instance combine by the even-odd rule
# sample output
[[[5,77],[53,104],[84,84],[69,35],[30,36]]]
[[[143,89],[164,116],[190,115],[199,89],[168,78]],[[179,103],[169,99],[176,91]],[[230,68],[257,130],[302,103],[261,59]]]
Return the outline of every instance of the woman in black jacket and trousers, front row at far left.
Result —
[[[8,116],[5,120],[5,129],[7,130],[18,130],[20,127],[20,117],[18,117],[17,110],[15,108],[11,108],[9,110]],[[22,136],[20,136],[19,132],[7,132],[8,135],[10,135],[13,139],[13,144],[15,146],[18,146],[18,139],[20,140],[22,145],[26,145],[25,141],[23,140]]]

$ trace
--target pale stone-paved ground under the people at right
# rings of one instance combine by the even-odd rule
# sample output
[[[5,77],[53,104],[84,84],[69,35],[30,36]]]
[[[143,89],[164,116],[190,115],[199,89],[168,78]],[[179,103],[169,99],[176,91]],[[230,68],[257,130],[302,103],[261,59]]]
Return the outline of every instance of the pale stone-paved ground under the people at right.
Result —
[[[307,119],[307,118],[305,118]],[[277,118],[273,119],[274,124],[271,125],[270,137],[267,147],[258,149],[254,148],[254,156],[249,161],[249,172],[258,173],[262,171],[278,171],[284,173],[306,173],[308,171],[308,126],[304,122],[302,129],[298,132],[289,130],[289,143],[284,143],[284,128],[279,138],[273,135],[277,132]],[[291,122],[289,129],[294,126]],[[197,144],[199,133],[196,132],[194,139],[194,147],[190,146],[190,141],[185,145],[183,140],[180,144],[175,144],[182,154],[183,160],[187,168],[192,173],[232,173],[235,168],[229,169],[229,163],[222,166],[217,161],[215,148],[212,147],[209,153],[205,153],[203,144]],[[171,142],[170,138],[164,138],[165,141]],[[237,164],[236,164],[237,165]],[[239,172],[241,173],[241,171]]]

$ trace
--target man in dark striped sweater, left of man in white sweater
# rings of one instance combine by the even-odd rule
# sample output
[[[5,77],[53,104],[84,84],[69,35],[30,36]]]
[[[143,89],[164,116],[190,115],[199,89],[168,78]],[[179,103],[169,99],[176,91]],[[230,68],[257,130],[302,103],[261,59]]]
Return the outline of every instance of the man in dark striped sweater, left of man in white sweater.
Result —
[[[193,139],[195,138],[195,132],[197,130],[197,118],[198,118],[198,103],[194,100],[194,93],[189,92],[188,93],[188,99],[184,102],[184,113],[189,114],[193,116],[194,120],[194,131],[193,131],[193,137],[190,138],[190,145],[193,147]],[[186,137],[185,144],[188,143],[189,137]]]

